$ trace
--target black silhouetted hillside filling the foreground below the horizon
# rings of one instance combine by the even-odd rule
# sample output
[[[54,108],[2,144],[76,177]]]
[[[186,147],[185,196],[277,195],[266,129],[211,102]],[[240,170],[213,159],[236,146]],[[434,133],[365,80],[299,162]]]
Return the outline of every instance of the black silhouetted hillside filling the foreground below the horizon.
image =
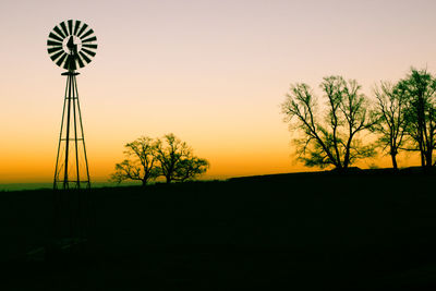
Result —
[[[95,189],[88,242],[58,258],[40,248],[52,192],[3,192],[0,290],[436,290],[435,181],[378,170]]]

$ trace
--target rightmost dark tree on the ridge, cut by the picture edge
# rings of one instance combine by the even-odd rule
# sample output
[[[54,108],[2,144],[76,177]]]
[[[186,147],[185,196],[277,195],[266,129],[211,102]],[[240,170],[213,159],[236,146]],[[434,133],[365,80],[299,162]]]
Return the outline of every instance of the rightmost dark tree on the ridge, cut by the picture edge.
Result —
[[[407,132],[421,153],[422,167],[434,166],[436,147],[436,78],[426,70],[411,69],[399,86],[408,94]]]

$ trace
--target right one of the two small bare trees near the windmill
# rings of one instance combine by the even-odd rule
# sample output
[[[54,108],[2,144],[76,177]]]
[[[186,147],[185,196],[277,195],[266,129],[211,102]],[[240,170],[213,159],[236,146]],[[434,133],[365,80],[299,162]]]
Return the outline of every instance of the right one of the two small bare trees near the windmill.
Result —
[[[167,183],[193,179],[209,167],[207,160],[194,157],[192,148],[172,133],[157,141],[156,158]]]

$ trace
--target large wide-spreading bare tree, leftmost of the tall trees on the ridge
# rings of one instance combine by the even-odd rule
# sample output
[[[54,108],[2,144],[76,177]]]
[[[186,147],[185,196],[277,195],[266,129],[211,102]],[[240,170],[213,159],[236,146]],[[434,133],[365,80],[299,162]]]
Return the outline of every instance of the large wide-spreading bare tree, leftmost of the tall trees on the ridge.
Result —
[[[354,80],[327,76],[320,88],[327,98],[327,112],[319,110],[311,87],[302,83],[291,85],[281,105],[290,129],[302,136],[294,138],[299,159],[308,167],[334,166],[341,170],[374,156],[374,147],[362,145],[356,137],[375,122],[361,86]]]

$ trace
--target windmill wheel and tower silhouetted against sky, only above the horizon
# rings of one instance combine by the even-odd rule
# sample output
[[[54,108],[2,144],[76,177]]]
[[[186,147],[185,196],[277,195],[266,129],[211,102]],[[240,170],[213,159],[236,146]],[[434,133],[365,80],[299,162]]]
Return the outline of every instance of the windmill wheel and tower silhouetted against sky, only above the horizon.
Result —
[[[95,57],[97,37],[86,23],[69,20],[61,22],[48,35],[47,46],[50,59],[66,70],[65,99],[56,158],[53,189],[89,189],[89,169],[76,72]]]

